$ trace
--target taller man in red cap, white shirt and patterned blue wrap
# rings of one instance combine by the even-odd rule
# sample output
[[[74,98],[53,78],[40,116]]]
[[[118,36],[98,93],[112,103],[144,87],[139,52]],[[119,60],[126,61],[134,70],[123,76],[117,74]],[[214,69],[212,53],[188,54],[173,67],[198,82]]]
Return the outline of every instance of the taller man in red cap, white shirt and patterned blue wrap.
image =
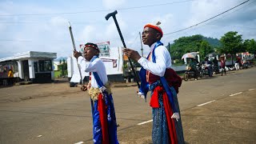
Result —
[[[142,42],[150,46],[150,54],[147,58],[142,58],[135,50],[124,49],[123,52],[142,66],[139,73],[141,87],[138,94],[146,98],[147,92],[151,90],[153,143],[185,143],[177,98],[182,78],[170,67],[170,53],[160,42],[163,33],[159,24],[160,22],[156,25],[144,26]]]

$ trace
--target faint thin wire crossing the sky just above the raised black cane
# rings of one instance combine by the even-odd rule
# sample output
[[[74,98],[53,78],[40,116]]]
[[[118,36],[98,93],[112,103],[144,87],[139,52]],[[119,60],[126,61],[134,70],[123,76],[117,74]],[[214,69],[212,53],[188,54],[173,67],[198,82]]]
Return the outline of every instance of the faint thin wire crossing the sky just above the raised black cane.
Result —
[[[176,3],[190,2],[190,1],[194,1],[194,0],[185,0],[185,1],[180,1],[180,2],[169,2],[169,3],[148,5],[148,6],[126,7],[126,8],[116,9],[116,10],[134,10],[134,9],[141,9],[141,8],[146,8],[146,7],[166,6],[166,5],[172,5],[172,4],[176,4]],[[58,14],[87,14],[87,13],[98,13],[98,12],[107,12],[107,11],[113,11],[113,10],[91,10],[91,11],[77,11],[77,12],[63,12],[63,13],[48,13],[48,14],[0,14],[0,17],[39,16],[39,15],[58,15]]]

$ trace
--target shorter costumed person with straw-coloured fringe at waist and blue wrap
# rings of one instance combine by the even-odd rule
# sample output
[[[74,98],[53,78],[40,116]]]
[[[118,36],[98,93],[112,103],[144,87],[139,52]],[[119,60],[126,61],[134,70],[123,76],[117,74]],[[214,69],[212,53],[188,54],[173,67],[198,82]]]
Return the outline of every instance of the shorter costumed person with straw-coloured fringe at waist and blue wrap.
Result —
[[[78,51],[74,51],[74,57],[78,58],[81,70],[89,72],[90,81],[81,90],[88,90],[91,101],[93,117],[93,132],[95,144],[118,144],[117,122],[114,112],[114,102],[110,90],[110,83],[106,75],[106,67],[98,58],[98,46],[94,43],[86,43],[84,58]]]

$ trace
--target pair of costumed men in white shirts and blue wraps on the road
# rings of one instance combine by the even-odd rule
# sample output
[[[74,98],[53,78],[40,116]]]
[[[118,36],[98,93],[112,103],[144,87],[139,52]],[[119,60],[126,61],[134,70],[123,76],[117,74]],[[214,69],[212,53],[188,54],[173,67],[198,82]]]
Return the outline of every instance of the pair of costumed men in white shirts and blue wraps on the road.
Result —
[[[147,92],[151,91],[152,142],[154,144],[185,143],[177,98],[182,78],[170,68],[171,57],[160,42],[162,36],[160,26],[146,24],[142,32],[142,42],[150,46],[148,57],[143,58],[138,51],[131,49],[124,49],[123,53],[142,66],[138,95],[146,98]],[[84,58],[78,51],[74,51],[74,57],[78,58],[81,70],[89,72],[90,75],[90,81],[87,85],[83,85],[81,90],[88,90],[90,95],[94,143],[116,144],[118,137],[114,101],[106,67],[98,58],[98,54],[98,46],[90,42],[86,43],[84,48]]]

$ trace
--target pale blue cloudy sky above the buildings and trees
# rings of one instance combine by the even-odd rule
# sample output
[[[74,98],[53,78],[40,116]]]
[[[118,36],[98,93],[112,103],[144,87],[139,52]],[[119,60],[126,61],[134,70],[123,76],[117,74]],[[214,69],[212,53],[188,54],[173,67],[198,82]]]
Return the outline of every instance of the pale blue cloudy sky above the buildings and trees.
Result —
[[[118,10],[116,18],[126,46],[140,52],[140,38],[146,23],[162,22],[165,45],[182,36],[202,34],[221,38],[233,30],[243,39],[256,39],[256,0],[250,0],[226,14],[178,33],[229,10],[246,0],[0,0],[0,58],[26,51],[55,52],[59,57],[72,54],[68,22],[75,43],[110,42],[122,46],[113,18],[106,14]],[[149,52],[143,46],[144,54]]]

